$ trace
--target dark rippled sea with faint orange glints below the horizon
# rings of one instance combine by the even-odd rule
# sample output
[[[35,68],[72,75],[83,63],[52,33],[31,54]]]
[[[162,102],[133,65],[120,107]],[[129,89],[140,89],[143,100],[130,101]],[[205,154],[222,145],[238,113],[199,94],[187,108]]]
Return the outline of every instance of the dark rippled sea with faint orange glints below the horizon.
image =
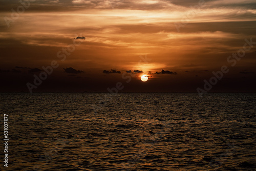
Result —
[[[256,170],[256,94],[1,94],[1,113],[2,170]]]

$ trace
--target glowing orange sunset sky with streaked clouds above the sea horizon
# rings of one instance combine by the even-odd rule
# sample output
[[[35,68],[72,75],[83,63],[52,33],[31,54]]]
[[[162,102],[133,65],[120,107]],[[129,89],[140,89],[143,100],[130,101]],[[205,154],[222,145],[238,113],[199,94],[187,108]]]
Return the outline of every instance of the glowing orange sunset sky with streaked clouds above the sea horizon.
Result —
[[[13,17],[20,6],[1,2],[2,92],[29,92],[26,83],[53,60],[59,67],[34,92],[104,92],[116,82],[122,92],[196,92],[224,65],[230,71],[211,91],[255,91],[256,44],[236,66],[227,62],[246,38],[256,41],[255,1],[33,0]],[[61,61],[57,53],[77,36],[86,39]],[[70,67],[83,72],[63,70]],[[121,74],[103,73],[111,69]],[[129,70],[134,77],[126,83]],[[177,74],[156,74],[162,70]]]

